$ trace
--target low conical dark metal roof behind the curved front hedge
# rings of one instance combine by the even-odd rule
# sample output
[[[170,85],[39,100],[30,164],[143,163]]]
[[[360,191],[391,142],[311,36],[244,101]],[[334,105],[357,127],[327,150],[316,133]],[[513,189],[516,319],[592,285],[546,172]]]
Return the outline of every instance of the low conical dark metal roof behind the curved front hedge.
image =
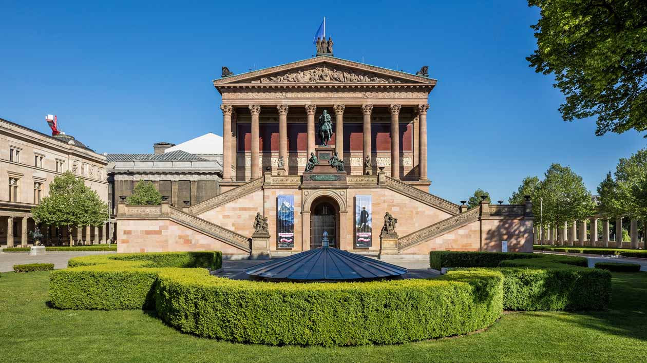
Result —
[[[270,280],[360,280],[406,274],[407,269],[332,247],[319,247],[246,269]]]

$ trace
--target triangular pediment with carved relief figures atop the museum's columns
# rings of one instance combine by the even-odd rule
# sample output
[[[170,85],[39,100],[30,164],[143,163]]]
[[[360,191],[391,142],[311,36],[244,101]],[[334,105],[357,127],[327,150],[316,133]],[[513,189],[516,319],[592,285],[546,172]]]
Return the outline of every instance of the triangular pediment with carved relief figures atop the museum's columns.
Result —
[[[418,83],[435,85],[436,80],[331,56],[318,56],[214,80],[216,87],[219,85],[280,85],[283,83]]]

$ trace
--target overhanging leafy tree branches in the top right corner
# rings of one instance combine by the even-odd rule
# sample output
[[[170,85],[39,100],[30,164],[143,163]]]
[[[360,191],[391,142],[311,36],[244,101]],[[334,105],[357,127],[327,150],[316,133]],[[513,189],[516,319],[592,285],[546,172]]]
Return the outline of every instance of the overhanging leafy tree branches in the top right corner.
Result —
[[[647,1],[529,0],[541,17],[526,59],[554,74],[562,118],[597,115],[596,135],[647,130]],[[646,135],[647,137],[647,135]]]

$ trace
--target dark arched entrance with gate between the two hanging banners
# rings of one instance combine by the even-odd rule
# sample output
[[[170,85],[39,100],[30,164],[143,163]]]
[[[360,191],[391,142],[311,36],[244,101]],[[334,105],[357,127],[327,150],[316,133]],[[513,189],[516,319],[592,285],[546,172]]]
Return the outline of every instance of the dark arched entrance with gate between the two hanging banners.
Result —
[[[322,247],[324,232],[328,246],[339,248],[339,207],[331,197],[319,197],[311,207],[310,248]]]

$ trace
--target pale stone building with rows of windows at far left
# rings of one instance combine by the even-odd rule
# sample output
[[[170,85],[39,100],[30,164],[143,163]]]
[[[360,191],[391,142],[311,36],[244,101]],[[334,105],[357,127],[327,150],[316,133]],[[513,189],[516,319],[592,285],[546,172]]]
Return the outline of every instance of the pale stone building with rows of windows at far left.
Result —
[[[104,155],[87,148],[71,135],[46,135],[0,118],[0,247],[27,247],[33,241],[31,208],[49,194],[54,177],[71,170],[85,185],[107,201]],[[108,221],[107,221],[108,222]],[[102,227],[75,228],[75,243],[106,243],[114,230]],[[41,226],[47,245],[67,244],[67,228]]]

